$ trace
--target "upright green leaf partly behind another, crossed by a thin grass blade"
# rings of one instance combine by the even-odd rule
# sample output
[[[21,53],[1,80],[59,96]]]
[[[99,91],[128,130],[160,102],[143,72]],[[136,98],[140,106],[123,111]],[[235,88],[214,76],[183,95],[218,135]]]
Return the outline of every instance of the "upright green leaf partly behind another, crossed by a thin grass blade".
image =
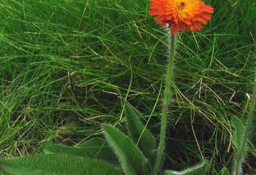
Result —
[[[138,110],[132,107],[132,105],[130,105],[129,103],[126,103],[125,115],[132,141],[134,141],[134,143],[136,144],[140,139],[140,141],[138,142],[138,148],[140,148],[140,150],[148,158],[152,157],[156,150],[156,139],[140,123],[138,119],[141,117],[140,112],[138,112]]]

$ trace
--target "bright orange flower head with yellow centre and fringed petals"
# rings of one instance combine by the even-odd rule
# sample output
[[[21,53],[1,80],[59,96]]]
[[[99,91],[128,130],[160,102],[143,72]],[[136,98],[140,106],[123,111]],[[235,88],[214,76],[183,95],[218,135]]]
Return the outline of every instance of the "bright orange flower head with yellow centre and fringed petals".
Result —
[[[177,31],[200,31],[201,24],[211,20],[214,8],[200,0],[150,0],[150,16],[157,15],[156,23]]]

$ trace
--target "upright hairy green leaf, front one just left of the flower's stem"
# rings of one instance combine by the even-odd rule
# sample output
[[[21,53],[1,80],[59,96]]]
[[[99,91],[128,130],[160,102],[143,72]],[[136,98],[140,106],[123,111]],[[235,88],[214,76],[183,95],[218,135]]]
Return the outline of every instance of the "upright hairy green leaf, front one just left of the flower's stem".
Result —
[[[127,175],[149,174],[147,159],[140,149],[124,133],[110,125],[102,125],[109,144],[118,156]]]

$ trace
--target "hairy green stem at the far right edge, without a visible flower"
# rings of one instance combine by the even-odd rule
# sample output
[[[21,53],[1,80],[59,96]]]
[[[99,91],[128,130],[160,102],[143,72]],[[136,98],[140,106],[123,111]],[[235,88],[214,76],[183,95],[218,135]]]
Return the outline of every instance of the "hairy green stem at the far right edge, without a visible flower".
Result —
[[[253,117],[254,117],[254,112],[255,112],[255,104],[256,104],[256,71],[255,71],[255,75],[254,75],[254,81],[253,81],[253,93],[252,93],[252,103],[250,105],[250,110],[249,110],[249,114],[248,114],[248,118],[246,121],[246,125],[245,125],[245,133],[244,133],[244,139],[243,139],[243,147],[241,149],[241,151],[239,151],[239,153],[237,154],[237,160],[235,162],[235,175],[240,175],[242,174],[242,164],[243,164],[243,152],[244,149],[248,148],[247,142],[250,136],[250,129],[252,127],[252,123],[253,123]]]

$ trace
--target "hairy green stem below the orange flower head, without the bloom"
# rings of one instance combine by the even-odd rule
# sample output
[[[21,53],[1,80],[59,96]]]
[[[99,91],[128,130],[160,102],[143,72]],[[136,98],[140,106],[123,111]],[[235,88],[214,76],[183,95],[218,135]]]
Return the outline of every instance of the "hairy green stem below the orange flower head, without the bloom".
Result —
[[[171,97],[170,86],[172,82],[174,52],[175,52],[175,35],[171,34],[169,61],[168,61],[168,68],[167,68],[167,74],[166,74],[166,86],[164,89],[163,112],[161,116],[161,133],[160,133],[159,147],[157,150],[156,164],[154,166],[154,174],[159,174],[159,172],[161,171],[161,165],[163,162],[167,112],[168,112],[168,106],[170,104],[170,97]]]

